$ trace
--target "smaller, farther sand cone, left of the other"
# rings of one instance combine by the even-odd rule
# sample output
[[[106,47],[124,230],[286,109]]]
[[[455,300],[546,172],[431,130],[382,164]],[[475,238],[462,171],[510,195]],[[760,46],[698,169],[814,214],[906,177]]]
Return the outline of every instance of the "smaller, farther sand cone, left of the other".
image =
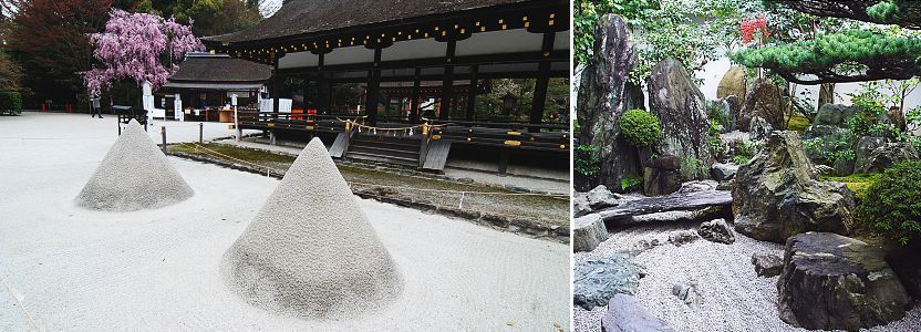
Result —
[[[75,203],[89,209],[133,211],[195,195],[136,121],[122,131]]]

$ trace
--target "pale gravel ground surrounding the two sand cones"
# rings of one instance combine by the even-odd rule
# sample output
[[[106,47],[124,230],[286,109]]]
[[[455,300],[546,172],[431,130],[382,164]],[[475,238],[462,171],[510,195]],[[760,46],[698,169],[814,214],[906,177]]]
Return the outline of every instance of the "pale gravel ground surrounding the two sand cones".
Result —
[[[168,158],[195,189],[192,198],[125,214],[77,208],[73,197],[116,135],[114,120],[92,121],[0,116],[2,137],[70,137],[0,138],[0,331],[22,331],[30,318],[50,331],[497,331],[507,323],[550,331],[569,324],[567,246],[373,200],[359,206],[404,276],[397,301],[355,303],[364,313],[339,322],[252,307],[225,286],[219,263],[278,180]],[[101,138],[81,138],[93,136]]]

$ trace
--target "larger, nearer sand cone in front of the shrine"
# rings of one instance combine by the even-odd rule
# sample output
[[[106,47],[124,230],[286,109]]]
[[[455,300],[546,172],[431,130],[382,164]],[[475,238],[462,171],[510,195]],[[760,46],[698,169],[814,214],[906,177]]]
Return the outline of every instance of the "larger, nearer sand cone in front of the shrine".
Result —
[[[251,304],[308,319],[354,317],[403,290],[393,259],[318,138],[224,255],[221,274]]]

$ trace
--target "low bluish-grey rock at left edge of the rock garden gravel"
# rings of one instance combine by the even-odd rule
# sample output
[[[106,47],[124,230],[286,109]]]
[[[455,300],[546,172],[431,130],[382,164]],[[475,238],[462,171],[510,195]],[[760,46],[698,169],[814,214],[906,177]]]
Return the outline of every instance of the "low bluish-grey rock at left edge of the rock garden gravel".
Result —
[[[573,303],[586,310],[608,304],[614,294],[632,295],[644,274],[633,256],[618,252],[576,266],[572,276]]]

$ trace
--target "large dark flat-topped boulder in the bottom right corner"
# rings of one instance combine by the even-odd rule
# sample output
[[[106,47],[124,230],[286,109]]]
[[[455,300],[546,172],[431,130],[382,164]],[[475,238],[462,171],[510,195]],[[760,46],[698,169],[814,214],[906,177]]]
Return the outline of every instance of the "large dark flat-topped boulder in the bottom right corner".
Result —
[[[777,290],[780,319],[809,330],[878,326],[900,320],[909,305],[881,249],[829,232],[787,240]]]

